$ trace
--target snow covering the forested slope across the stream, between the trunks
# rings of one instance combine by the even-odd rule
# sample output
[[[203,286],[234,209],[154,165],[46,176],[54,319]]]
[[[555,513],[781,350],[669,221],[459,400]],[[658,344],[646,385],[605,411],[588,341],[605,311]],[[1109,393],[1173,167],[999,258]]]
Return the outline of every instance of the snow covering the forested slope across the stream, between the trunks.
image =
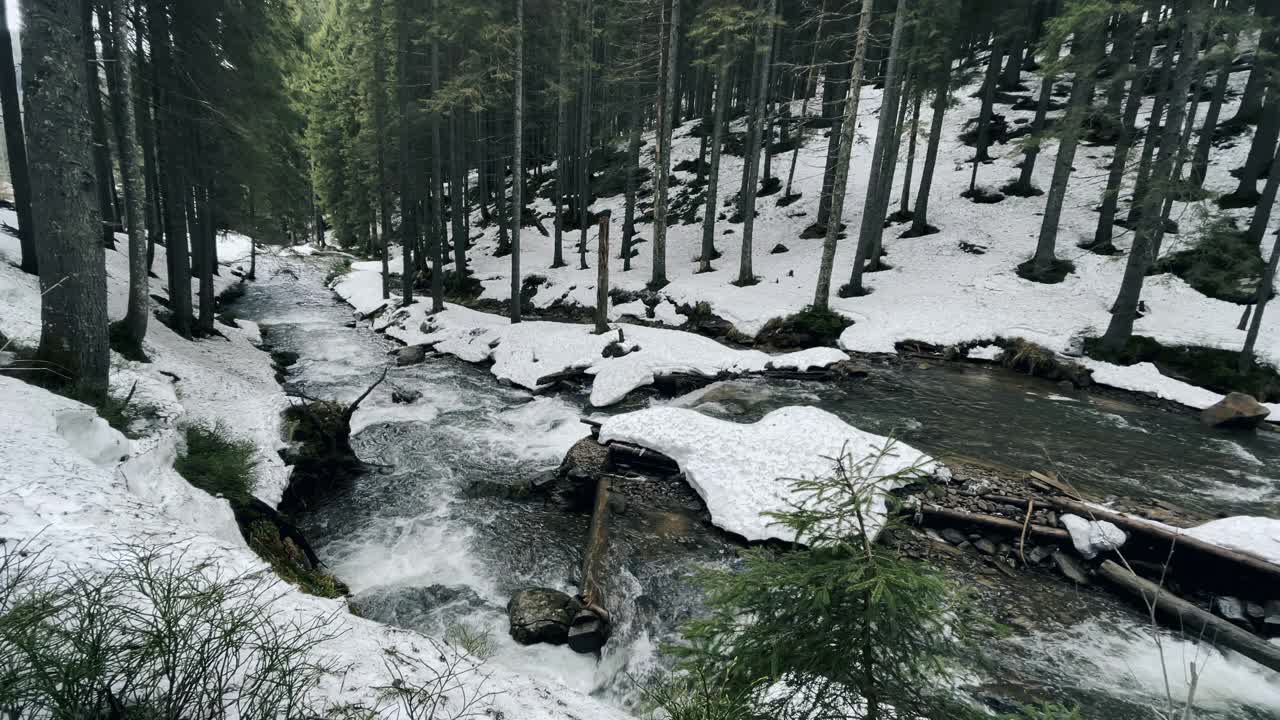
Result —
[[[1025,85],[1038,87],[1032,76],[1024,76]],[[1231,76],[1233,90],[1239,91],[1245,73]],[[847,315],[854,324],[845,331],[840,342],[850,351],[892,352],[895,343],[906,340],[924,341],[933,345],[952,345],[968,341],[993,340],[998,337],[1023,337],[1056,351],[1066,351],[1080,336],[1100,334],[1110,319],[1108,307],[1115,300],[1124,273],[1124,255],[1103,258],[1079,250],[1076,242],[1092,238],[1097,215],[1093,208],[1101,199],[1105,186],[1107,164],[1112,149],[1082,145],[1075,156],[1075,169],[1068,188],[1059,231],[1059,256],[1075,263],[1075,273],[1059,284],[1039,284],[1019,278],[1014,269],[1027,260],[1036,246],[1039,232],[1044,197],[1007,197],[997,205],[975,205],[960,197],[968,188],[970,165],[966,160],[973,149],[960,142],[963,124],[978,114],[979,101],[972,97],[977,86],[960,88],[955,95],[957,105],[948,110],[942,132],[942,146],[938,158],[934,187],[931,193],[929,222],[941,228],[937,234],[900,240],[897,234],[905,229],[895,225],[886,231],[886,261],[891,269],[867,275],[872,293],[856,299],[832,297],[832,309]],[[1034,91],[1029,94],[1034,96]],[[1238,100],[1233,99],[1222,110],[1229,118],[1235,111]],[[879,111],[881,91],[873,87],[863,88],[860,104],[859,135],[854,145],[850,187],[845,208],[850,237],[841,241],[836,255],[836,282],[838,287],[847,277],[852,265],[856,229],[861,222],[861,205],[865,195],[865,182],[869,174],[872,146],[874,143],[876,117]],[[817,108],[810,102],[810,111]],[[1144,108],[1139,123],[1147,119]],[[791,108],[799,114],[800,104]],[[1010,127],[1025,124],[1033,117],[1029,110],[1012,110],[1009,105],[997,105]],[[1201,111],[1203,117],[1203,109]],[[924,137],[928,133],[928,118],[920,127],[922,142],[916,158],[916,173],[923,163]],[[741,120],[740,120],[741,123]],[[691,135],[692,124],[685,124],[675,132],[673,164],[698,158],[699,140]],[[740,126],[735,131],[744,129]],[[1215,192],[1233,190],[1235,179],[1228,170],[1243,164],[1248,152],[1251,135],[1244,135],[1215,147],[1206,187]],[[901,143],[902,154],[906,142]],[[758,333],[764,324],[777,316],[801,310],[813,301],[820,240],[801,240],[800,232],[809,225],[815,214],[822,186],[822,172],[827,150],[826,131],[810,132],[801,147],[797,163],[794,192],[801,193],[799,201],[778,208],[776,201],[781,193],[762,197],[756,202],[759,218],[755,223],[755,254],[753,266],[759,277],[759,284],[736,287],[731,284],[737,277],[740,259],[741,225],[719,222],[717,225],[717,247],[724,254],[716,261],[717,272],[696,274],[694,259],[700,252],[701,224],[672,225],[668,229],[667,275],[671,284],[662,290],[660,301],[654,306],[650,322],[680,325],[684,316],[676,313],[677,306],[707,302],[712,310],[748,336]],[[1056,140],[1047,140],[1036,164],[1034,182],[1047,188],[1052,176],[1056,155]],[[653,136],[645,136],[643,150],[652,161]],[[991,150],[995,161],[979,170],[979,184],[998,187],[1016,177],[1015,163],[1021,154],[1015,142],[997,145]],[[774,159],[773,173],[786,177],[790,155]],[[721,168],[722,200],[732,197],[741,182],[742,159],[724,155]],[[678,193],[694,179],[692,173],[676,172],[681,184],[672,192]],[[902,186],[902,165],[895,177],[895,208]],[[915,188],[913,187],[913,197]],[[1126,188],[1128,192],[1128,188]],[[552,204],[544,197],[535,197],[531,206],[543,218],[547,228],[552,227]],[[1124,210],[1125,205],[1121,206]],[[603,199],[593,205],[596,211],[612,211],[611,237],[614,255],[622,233],[623,197],[621,195]],[[724,210],[722,208],[722,210]],[[1180,234],[1166,236],[1162,252],[1172,252],[1188,247],[1197,238],[1197,228],[1204,223],[1208,213],[1216,211],[1212,201],[1174,205],[1172,217],[1181,227]],[[1233,210],[1231,215],[1247,223],[1251,209]],[[701,213],[699,213],[701,214]],[[731,214],[731,213],[728,213]],[[475,223],[479,227],[479,220]],[[577,269],[575,246],[579,232],[566,233],[564,268],[550,269],[553,242],[538,228],[525,228],[521,243],[521,268],[525,275],[545,277],[545,283],[532,297],[536,307],[549,307],[557,304],[579,305],[584,307],[595,304],[595,231],[589,232],[588,261],[590,268]],[[481,282],[483,299],[508,300],[511,297],[511,259],[495,258],[498,245],[497,227],[490,225],[472,234],[472,247],[468,258],[475,277]],[[640,222],[637,237],[652,238],[652,224]],[[1116,228],[1116,245],[1128,249],[1132,236],[1123,228]],[[1270,236],[1265,238],[1263,256],[1270,254]],[[961,249],[961,243],[978,246],[983,254],[972,254]],[[769,252],[776,245],[787,247],[786,252]],[[626,291],[640,291],[650,277],[652,245],[637,246],[639,255],[632,259],[632,269],[621,272],[621,263],[614,258],[611,264],[611,287]],[[393,272],[398,272],[398,260],[393,261]],[[355,265],[353,275],[375,273],[378,264]],[[352,281],[361,282],[361,281]],[[379,287],[366,283],[372,295],[360,293],[348,284],[340,284],[339,291],[347,296],[357,310],[367,313],[380,305],[376,295]],[[1170,345],[1197,345],[1238,350],[1244,341],[1244,333],[1236,329],[1242,307],[1230,302],[1208,299],[1174,275],[1155,275],[1147,278],[1143,301],[1148,311],[1138,320],[1135,332],[1155,337]],[[644,318],[649,313],[641,302],[611,307],[611,319],[626,315]],[[499,323],[481,322],[471,316],[475,327],[486,332]],[[458,327],[458,323],[451,323]],[[407,327],[416,329],[417,322]],[[589,348],[585,348],[589,350]],[[1258,340],[1258,356],[1271,365],[1280,365],[1280,319],[1275,313],[1263,320]],[[579,366],[584,360],[579,360]],[[1204,407],[1221,396],[1202,388],[1188,386],[1161,375],[1151,365],[1119,368],[1102,363],[1089,363],[1100,382],[1142,392],[1153,392],[1161,397]],[[1276,407],[1280,410],[1280,407]]]

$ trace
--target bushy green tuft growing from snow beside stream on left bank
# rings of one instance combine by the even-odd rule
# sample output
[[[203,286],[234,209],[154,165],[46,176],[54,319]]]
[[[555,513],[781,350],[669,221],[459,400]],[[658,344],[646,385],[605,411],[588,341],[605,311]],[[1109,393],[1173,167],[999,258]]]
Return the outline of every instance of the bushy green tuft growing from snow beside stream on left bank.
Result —
[[[232,503],[248,502],[253,489],[253,441],[237,439],[221,423],[192,424],[183,430],[187,452],[174,462],[188,483]]]

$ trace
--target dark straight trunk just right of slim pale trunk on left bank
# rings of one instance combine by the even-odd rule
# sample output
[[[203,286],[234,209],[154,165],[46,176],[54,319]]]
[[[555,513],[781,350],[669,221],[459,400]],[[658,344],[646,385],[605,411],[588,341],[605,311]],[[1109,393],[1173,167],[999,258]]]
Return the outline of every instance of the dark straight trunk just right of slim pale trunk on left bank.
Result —
[[[147,20],[151,28],[151,64],[157,78],[161,102],[156,105],[156,124],[160,127],[160,160],[164,190],[165,256],[169,274],[169,310],[174,332],[191,337],[191,254],[187,245],[183,197],[186,173],[182,147],[186,142],[178,118],[182,92],[173,72],[173,45],[169,38],[169,14],[163,0],[147,0]],[[163,120],[161,120],[163,117]],[[163,160],[163,161],[161,161]]]

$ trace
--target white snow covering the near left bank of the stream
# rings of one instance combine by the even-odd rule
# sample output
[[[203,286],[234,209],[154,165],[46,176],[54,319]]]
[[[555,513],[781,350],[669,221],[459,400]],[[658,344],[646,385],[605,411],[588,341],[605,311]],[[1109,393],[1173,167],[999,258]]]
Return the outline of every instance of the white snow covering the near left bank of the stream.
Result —
[[[12,218],[6,219],[10,224]],[[221,258],[233,264],[232,236]],[[125,243],[122,241],[120,247]],[[40,332],[36,278],[10,261],[17,241],[0,234],[0,332],[19,345],[33,345]],[[270,259],[260,259],[270,263]],[[124,314],[127,258],[106,251],[110,315]],[[157,249],[156,266],[164,266]],[[261,272],[260,265],[260,272]],[[233,282],[227,268],[219,284]],[[154,282],[152,292],[159,291]],[[270,569],[244,543],[225,500],[189,486],[174,469],[179,423],[223,423],[259,447],[256,493],[279,500],[287,469],[275,456],[284,396],[275,384],[270,357],[253,346],[252,323],[242,329],[219,324],[223,338],[186,341],[157,322],[150,325],[146,351],[152,363],[113,356],[113,395],[124,396],[137,383],[133,402],[157,414],[140,439],[128,439],[96,416],[92,407],[0,374],[0,541],[29,542],[59,568],[88,570],[110,562],[119,546],[166,546],[189,561],[212,559],[216,571],[270,578]],[[164,373],[174,373],[173,379]],[[420,665],[401,669],[408,682],[430,679],[445,656],[454,653],[424,635],[364,620],[346,611],[343,601],[324,600],[278,582],[269,593],[273,616],[282,623],[323,623],[333,635],[316,648],[317,659],[338,671],[315,689],[321,710],[364,705],[385,707],[379,687],[390,684],[393,653]],[[463,660],[468,667],[474,660]],[[622,719],[627,715],[567,688],[532,680],[495,661],[458,678],[458,691],[494,693],[490,714],[531,720],[563,717]],[[458,692],[451,692],[458,700]]]

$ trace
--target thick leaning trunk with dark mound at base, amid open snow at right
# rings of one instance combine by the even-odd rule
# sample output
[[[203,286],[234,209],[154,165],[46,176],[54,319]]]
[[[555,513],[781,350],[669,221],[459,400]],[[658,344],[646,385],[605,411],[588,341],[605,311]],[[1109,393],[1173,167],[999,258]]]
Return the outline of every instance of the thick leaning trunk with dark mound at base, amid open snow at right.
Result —
[[[1019,274],[1036,282],[1053,282],[1057,274],[1057,227],[1062,218],[1062,202],[1066,200],[1066,186],[1071,181],[1071,164],[1075,163],[1075,147],[1084,129],[1084,120],[1089,115],[1089,99],[1093,97],[1093,64],[1101,59],[1101,44],[1089,38],[1088,32],[1080,32],[1082,45],[1079,56],[1087,67],[1075,73],[1071,81],[1071,97],[1066,109],[1066,115],[1059,124],[1057,156],[1053,160],[1053,179],[1048,186],[1048,197],[1044,202],[1044,214],[1041,219],[1039,237],[1036,241],[1036,255],[1030,266],[1019,268]],[[1094,50],[1097,49],[1097,50]]]

